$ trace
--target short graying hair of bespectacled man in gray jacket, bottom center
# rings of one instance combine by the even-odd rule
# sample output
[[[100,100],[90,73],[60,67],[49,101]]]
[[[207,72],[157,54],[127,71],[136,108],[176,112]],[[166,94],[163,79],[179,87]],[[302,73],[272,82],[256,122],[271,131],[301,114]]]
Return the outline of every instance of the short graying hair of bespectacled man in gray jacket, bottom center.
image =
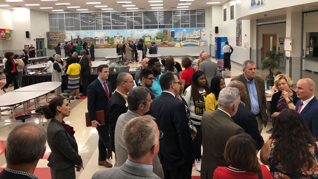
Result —
[[[154,120],[154,117],[146,115],[133,118],[124,126],[122,138],[130,158],[141,159],[156,144]]]

